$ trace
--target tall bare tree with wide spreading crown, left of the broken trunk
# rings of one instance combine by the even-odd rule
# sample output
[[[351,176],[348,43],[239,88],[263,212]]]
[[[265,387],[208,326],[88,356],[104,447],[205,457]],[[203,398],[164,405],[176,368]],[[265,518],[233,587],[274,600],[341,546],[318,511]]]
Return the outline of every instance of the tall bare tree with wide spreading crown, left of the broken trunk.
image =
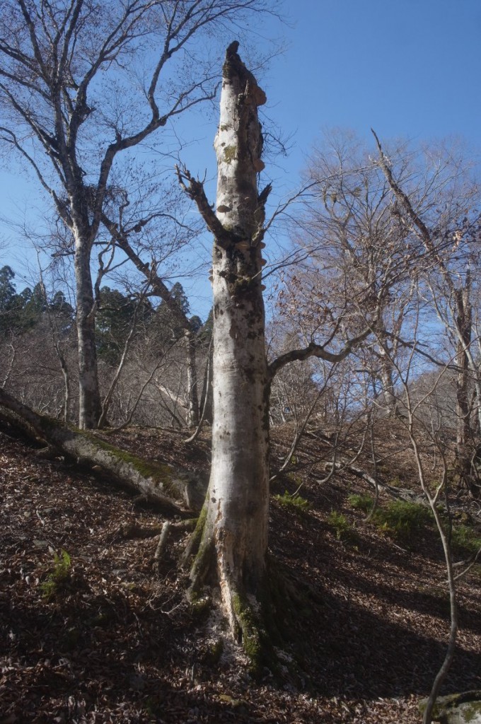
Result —
[[[2,4],[0,138],[36,175],[75,243],[80,428],[101,415],[91,253],[112,177],[127,174],[131,149],[214,98],[202,39],[267,9],[264,0]]]

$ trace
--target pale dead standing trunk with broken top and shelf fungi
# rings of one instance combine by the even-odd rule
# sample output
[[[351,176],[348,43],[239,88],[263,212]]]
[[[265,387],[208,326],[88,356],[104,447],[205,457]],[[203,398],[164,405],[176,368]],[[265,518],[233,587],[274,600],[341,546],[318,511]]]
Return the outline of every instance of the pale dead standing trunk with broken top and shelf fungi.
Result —
[[[215,583],[235,638],[251,655],[258,645],[251,618],[264,585],[269,519],[269,371],[264,340],[262,237],[264,202],[257,173],[264,164],[257,106],[264,92],[237,54],[223,67],[217,153],[217,216],[200,182],[180,182],[214,231],[212,471],[191,592]],[[185,180],[189,186],[185,186]]]

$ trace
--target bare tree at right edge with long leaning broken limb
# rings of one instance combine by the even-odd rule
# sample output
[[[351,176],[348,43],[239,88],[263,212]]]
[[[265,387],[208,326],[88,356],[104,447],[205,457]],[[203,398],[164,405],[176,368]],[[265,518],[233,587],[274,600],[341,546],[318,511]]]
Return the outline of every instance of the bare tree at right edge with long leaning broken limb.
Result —
[[[374,132],[373,132],[374,133]],[[379,166],[398,204],[401,223],[418,237],[424,278],[430,300],[451,338],[456,359],[456,445],[459,474],[475,496],[480,489],[472,475],[472,405],[469,390],[481,399],[481,378],[476,359],[472,308],[472,267],[479,264],[480,212],[478,190],[467,177],[461,159],[449,153],[438,159],[424,184],[410,188],[396,175],[393,162],[375,135]],[[479,405],[477,406],[479,411]],[[479,428],[479,413],[477,427]],[[471,448],[471,450],[470,450]]]

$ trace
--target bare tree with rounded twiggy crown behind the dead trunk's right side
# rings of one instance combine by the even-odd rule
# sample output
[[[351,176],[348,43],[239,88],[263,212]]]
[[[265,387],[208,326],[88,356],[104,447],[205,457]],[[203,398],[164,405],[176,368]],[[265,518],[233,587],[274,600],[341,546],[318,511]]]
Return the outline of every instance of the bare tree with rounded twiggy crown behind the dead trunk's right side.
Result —
[[[403,146],[398,150],[398,172],[409,177],[409,155]],[[309,255],[288,272],[281,312],[294,312],[305,335],[322,330],[326,336],[339,325],[351,332],[364,327],[373,310],[379,313],[368,364],[377,404],[396,415],[390,358],[409,323],[419,243],[399,222],[387,180],[352,132],[326,134],[311,153],[306,177],[309,195],[292,233]],[[391,334],[381,337],[380,329]],[[363,357],[367,363],[366,350]]]

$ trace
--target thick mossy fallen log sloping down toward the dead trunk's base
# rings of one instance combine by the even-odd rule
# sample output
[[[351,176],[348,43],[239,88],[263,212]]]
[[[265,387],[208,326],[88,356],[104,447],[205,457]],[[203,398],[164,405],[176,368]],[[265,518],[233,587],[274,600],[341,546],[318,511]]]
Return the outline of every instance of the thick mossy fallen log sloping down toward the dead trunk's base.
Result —
[[[168,515],[201,510],[206,480],[183,468],[138,458],[127,450],[109,445],[91,432],[41,415],[0,390],[0,405],[17,418],[15,425],[30,437],[43,439],[79,464],[94,468],[119,487],[141,494]],[[7,416],[4,413],[4,416]]]

